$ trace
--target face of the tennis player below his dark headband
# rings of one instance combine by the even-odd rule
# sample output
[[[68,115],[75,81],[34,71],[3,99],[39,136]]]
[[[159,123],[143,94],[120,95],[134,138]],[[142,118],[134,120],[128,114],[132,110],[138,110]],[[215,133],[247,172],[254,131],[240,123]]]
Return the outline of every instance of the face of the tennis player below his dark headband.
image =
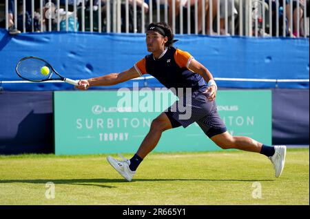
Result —
[[[167,37],[163,37],[163,35],[156,31],[149,30],[147,31],[145,41],[147,44],[147,51],[150,53],[156,53],[158,50],[163,50],[165,48]]]

